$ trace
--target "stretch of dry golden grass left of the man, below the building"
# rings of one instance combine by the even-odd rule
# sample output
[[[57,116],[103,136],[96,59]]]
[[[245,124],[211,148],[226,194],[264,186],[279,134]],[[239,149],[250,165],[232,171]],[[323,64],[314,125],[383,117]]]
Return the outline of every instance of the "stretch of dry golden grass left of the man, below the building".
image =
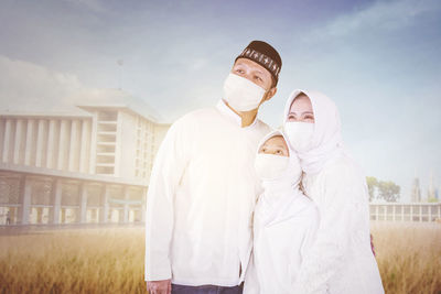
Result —
[[[4,293],[146,293],[142,228],[0,237]]]

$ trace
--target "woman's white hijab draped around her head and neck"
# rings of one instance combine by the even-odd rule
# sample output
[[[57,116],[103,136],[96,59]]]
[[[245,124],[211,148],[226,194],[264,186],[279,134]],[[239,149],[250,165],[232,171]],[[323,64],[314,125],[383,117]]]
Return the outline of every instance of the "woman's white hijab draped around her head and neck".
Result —
[[[300,94],[304,94],[311,100],[314,112],[314,132],[310,149],[305,152],[298,152],[298,155],[302,170],[306,174],[316,174],[327,163],[345,154],[340,115],[335,104],[325,95],[319,91],[297,89],[291,92],[284,106],[283,126],[288,122],[292,102]]]

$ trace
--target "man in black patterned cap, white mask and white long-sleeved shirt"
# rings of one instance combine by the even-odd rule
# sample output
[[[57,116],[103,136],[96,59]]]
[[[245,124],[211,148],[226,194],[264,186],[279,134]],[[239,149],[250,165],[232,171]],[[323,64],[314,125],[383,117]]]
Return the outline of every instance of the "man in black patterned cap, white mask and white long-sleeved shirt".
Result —
[[[281,59],[252,41],[236,58],[215,108],[172,124],[147,198],[146,281],[151,294],[241,293],[260,183],[254,157],[270,128],[259,107],[277,91]]]

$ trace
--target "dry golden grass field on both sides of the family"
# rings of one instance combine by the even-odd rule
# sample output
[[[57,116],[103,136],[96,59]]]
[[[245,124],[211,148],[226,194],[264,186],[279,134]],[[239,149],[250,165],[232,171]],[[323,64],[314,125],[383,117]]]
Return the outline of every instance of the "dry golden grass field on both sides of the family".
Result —
[[[440,224],[373,235],[386,293],[441,293]],[[0,293],[144,293],[143,250],[141,227],[0,236]]]

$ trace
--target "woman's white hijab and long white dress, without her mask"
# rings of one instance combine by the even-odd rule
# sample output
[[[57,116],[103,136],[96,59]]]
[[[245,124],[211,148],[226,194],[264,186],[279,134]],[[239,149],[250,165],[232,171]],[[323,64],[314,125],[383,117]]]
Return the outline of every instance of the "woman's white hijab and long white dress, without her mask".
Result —
[[[299,92],[287,101],[286,119]],[[311,153],[301,154],[303,186],[319,207],[320,227],[292,293],[384,293],[370,249],[365,176],[343,150],[335,105],[322,94],[302,92],[311,99],[315,120]]]

